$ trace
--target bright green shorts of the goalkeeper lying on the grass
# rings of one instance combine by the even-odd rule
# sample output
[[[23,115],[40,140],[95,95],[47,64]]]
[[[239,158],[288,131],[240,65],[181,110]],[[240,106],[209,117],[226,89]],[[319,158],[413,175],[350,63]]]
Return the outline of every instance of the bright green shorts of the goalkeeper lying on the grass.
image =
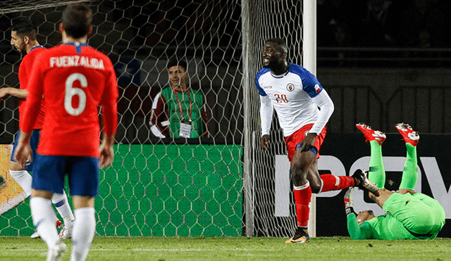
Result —
[[[445,225],[443,207],[438,200],[423,193],[393,193],[383,204],[383,210],[390,212],[406,229],[413,232],[412,234],[437,236]]]

